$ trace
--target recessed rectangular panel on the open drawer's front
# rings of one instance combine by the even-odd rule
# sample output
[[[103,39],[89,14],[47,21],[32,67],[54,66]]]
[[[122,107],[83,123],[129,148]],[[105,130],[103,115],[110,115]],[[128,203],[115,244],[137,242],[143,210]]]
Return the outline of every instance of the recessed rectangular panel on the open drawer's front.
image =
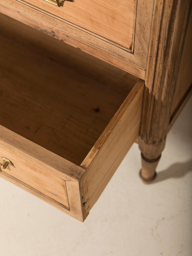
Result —
[[[56,202],[60,206],[69,209],[65,181],[42,168],[26,161],[14,153],[0,148],[0,162],[2,157],[11,160],[14,166],[8,165],[6,169],[1,168],[0,174],[22,183],[47,199]]]

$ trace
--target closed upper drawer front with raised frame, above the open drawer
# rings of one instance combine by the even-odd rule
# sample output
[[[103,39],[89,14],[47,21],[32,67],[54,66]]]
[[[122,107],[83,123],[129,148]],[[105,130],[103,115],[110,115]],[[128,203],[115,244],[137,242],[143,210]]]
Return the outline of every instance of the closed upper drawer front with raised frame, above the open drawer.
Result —
[[[144,79],[153,2],[1,0],[0,10]]]

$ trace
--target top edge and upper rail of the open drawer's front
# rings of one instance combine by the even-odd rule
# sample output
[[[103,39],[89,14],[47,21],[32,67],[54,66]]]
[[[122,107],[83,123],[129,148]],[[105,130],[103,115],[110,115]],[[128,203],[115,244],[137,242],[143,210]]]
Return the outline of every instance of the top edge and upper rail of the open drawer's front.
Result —
[[[85,171],[70,161],[2,126],[0,126],[0,144],[5,150],[9,150],[63,180],[77,181]]]

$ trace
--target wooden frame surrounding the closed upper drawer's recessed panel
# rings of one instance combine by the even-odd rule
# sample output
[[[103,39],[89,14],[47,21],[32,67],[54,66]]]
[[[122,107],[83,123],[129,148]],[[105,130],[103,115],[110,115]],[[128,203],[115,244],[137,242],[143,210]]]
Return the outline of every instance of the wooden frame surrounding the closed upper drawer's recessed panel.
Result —
[[[49,8],[53,7],[59,9],[59,7],[50,5],[43,0],[42,4],[50,6]],[[64,4],[71,3],[65,2]],[[85,6],[86,5],[84,4],[84,7]],[[80,48],[81,50],[118,66],[118,68],[128,71],[139,78],[145,79],[153,0],[137,1],[133,53],[112,41],[108,42],[106,38],[98,36],[92,31],[87,31],[76,24],[70,23],[68,20],[65,20],[65,17],[63,16],[59,17],[50,14],[38,7],[31,6],[22,0],[1,0],[0,10],[2,13],[15,18],[16,20],[50,34],[74,47]]]

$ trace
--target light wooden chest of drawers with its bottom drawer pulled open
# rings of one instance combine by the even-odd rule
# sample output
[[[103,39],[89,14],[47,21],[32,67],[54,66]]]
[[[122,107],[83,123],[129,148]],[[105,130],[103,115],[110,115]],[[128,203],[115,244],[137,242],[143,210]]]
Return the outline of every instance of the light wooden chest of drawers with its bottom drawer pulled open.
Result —
[[[138,138],[156,175],[191,91],[191,4],[61,5],[0,2],[0,176],[83,221]]]

